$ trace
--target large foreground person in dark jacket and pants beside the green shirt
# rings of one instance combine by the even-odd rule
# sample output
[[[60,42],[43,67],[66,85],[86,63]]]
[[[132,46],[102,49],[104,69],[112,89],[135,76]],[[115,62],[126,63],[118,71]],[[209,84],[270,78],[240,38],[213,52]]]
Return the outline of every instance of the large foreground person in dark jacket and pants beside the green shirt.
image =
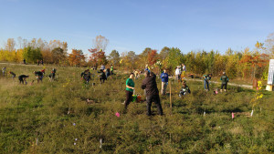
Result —
[[[163,108],[161,106],[159,90],[156,83],[156,75],[153,72],[145,71],[145,78],[142,80],[142,89],[146,91],[147,115],[151,116],[152,103],[154,102],[158,109],[158,114],[163,115]]]

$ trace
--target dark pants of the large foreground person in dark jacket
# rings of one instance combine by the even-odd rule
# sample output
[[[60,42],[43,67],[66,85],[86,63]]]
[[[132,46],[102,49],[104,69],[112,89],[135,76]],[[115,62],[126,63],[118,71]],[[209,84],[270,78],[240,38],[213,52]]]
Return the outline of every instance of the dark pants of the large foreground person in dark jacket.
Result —
[[[147,96],[146,97],[146,108],[147,108],[147,115],[151,116],[152,115],[152,103],[155,103],[158,109],[158,114],[159,115],[163,115],[163,109],[161,106],[161,102],[160,102],[160,97],[159,95],[151,95],[151,96]]]

